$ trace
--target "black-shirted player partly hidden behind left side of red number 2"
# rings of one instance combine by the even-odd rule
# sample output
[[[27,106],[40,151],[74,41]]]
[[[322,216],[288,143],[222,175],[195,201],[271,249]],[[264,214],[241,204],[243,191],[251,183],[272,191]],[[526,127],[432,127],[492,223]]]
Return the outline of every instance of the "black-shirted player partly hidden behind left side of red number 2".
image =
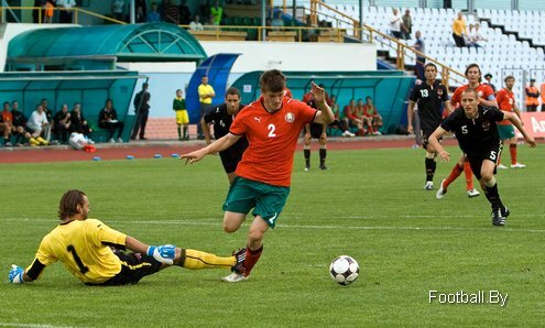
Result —
[[[243,107],[244,105],[240,103],[239,89],[235,87],[227,89],[225,103],[212,107],[200,120],[206,144],[211,143],[210,128],[208,124],[214,123],[214,136],[216,140],[220,139],[229,133],[232,120]],[[224,165],[224,170],[229,178],[229,184],[231,185],[236,177],[235,171],[237,170],[237,165],[242,158],[242,153],[244,153],[247,147],[248,140],[246,136],[242,136],[229,149],[219,152],[221,164]]]

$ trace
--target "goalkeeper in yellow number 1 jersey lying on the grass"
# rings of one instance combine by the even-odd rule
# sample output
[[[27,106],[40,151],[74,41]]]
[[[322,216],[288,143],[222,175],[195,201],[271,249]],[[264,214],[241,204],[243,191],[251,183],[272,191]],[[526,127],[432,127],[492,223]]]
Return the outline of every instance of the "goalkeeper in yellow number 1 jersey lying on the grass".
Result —
[[[88,212],[89,200],[83,192],[66,192],[58,206],[61,223],[43,238],[34,261],[26,270],[12,265],[10,282],[32,282],[45,266],[56,261],[63,262],[87,285],[135,284],[171,265],[192,270],[232,269],[244,261],[172,244],[149,247],[99,220],[88,219]],[[124,252],[126,249],[130,251]]]

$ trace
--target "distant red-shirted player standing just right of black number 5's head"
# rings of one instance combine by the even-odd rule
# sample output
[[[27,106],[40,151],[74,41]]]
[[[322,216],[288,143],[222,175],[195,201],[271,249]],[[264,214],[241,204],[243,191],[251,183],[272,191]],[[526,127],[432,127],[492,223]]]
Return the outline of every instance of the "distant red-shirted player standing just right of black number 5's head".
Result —
[[[509,75],[504,78],[505,88],[501,89],[497,94],[498,105],[500,109],[506,112],[514,112],[519,120],[521,120],[521,110],[515,103],[515,98],[513,95],[514,77]],[[521,120],[521,124],[524,123]],[[516,161],[516,138],[514,133],[513,124],[511,121],[503,120],[498,123],[498,132],[500,132],[500,139],[503,144],[509,144],[509,153],[511,154],[511,168],[524,168],[526,165],[521,164]],[[499,163],[499,162],[498,162]],[[498,164],[498,168],[508,168],[503,164]]]

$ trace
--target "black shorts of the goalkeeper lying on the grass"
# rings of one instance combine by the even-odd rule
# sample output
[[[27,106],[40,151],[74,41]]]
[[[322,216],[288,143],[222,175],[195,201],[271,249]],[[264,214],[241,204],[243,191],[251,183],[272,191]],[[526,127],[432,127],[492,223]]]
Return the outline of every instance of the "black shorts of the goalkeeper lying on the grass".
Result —
[[[154,274],[160,271],[161,266],[163,265],[161,262],[153,259],[153,256],[148,256],[141,253],[126,253],[120,250],[116,250],[113,251],[113,253],[119,258],[119,260],[121,260],[121,271],[105,283],[98,284],[100,286],[137,284],[144,276]]]

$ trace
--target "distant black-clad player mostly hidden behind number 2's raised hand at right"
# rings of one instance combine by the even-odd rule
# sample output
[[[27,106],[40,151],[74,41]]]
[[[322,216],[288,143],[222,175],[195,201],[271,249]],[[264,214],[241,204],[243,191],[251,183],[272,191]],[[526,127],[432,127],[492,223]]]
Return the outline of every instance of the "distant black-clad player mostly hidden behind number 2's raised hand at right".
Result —
[[[309,81],[310,90],[308,90],[308,92],[306,92],[303,96],[303,102],[305,102],[306,105],[310,106],[312,108],[314,108],[316,110],[320,110],[318,108],[318,103],[316,102],[316,100],[314,100],[314,94],[312,90],[313,84],[314,84],[314,81],[310,80]],[[324,85],[319,85],[319,87],[325,88]],[[325,97],[326,97],[326,102],[329,105],[331,101],[329,100],[329,96],[327,95],[327,92],[325,92]],[[327,146],[326,146],[327,133],[326,133],[326,130],[327,130],[327,125],[324,125],[324,124],[314,123],[314,122],[305,124],[305,128],[304,128],[305,135],[304,135],[304,140],[303,140],[303,142],[304,142],[303,154],[305,156],[305,171],[310,170],[310,140],[312,139],[317,139],[318,143],[319,143],[319,170],[327,170],[327,166],[326,166],[326,157],[327,157]]]

